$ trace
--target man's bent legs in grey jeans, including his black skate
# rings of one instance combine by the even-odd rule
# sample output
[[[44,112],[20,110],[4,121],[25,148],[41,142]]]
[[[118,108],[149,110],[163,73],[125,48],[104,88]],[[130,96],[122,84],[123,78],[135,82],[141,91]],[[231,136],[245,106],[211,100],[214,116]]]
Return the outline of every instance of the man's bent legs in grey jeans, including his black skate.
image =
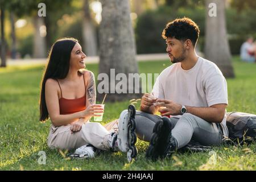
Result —
[[[137,111],[135,115],[136,133],[139,139],[150,142],[147,158],[165,158],[191,140],[204,146],[219,145],[222,132],[216,123],[185,113],[171,118]]]

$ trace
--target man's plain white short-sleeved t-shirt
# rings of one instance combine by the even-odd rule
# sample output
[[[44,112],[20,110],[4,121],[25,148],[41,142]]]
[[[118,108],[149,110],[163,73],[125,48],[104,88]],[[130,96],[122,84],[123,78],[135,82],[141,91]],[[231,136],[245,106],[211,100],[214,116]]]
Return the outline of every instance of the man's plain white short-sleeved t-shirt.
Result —
[[[216,64],[202,57],[199,57],[196,65],[189,70],[181,68],[181,63],[172,64],[164,69],[156,79],[152,94],[156,98],[172,100],[185,106],[228,105],[225,77]],[[221,126],[224,136],[228,137],[226,111]]]

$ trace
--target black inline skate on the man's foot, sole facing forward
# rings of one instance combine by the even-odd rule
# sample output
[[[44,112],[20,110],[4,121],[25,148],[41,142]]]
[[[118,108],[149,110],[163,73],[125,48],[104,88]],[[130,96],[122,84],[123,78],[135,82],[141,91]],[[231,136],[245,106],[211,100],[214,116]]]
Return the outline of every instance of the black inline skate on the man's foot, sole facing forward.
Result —
[[[176,150],[177,141],[171,135],[171,122],[167,117],[160,118],[155,124],[146,151],[146,158],[156,160],[170,156]]]

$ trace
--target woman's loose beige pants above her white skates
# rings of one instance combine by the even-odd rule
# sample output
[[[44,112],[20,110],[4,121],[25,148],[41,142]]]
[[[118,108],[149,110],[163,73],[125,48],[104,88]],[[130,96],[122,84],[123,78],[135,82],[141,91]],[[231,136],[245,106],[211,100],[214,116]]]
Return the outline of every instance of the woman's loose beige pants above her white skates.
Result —
[[[73,150],[92,144],[101,150],[108,150],[109,134],[118,128],[117,120],[110,122],[104,126],[97,122],[88,122],[82,125],[80,131],[71,133],[71,125],[55,127],[51,125],[48,136],[48,147],[60,148],[61,150]]]

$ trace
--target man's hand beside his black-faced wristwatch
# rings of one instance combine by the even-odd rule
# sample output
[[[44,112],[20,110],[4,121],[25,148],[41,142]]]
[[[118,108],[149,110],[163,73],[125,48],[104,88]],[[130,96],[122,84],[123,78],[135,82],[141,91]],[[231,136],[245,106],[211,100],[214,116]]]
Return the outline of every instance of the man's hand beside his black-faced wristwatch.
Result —
[[[163,113],[162,116],[181,114],[180,109],[182,106],[179,104],[176,104],[174,101],[170,101],[166,99],[158,99],[156,100],[155,106],[160,107],[159,112]]]

